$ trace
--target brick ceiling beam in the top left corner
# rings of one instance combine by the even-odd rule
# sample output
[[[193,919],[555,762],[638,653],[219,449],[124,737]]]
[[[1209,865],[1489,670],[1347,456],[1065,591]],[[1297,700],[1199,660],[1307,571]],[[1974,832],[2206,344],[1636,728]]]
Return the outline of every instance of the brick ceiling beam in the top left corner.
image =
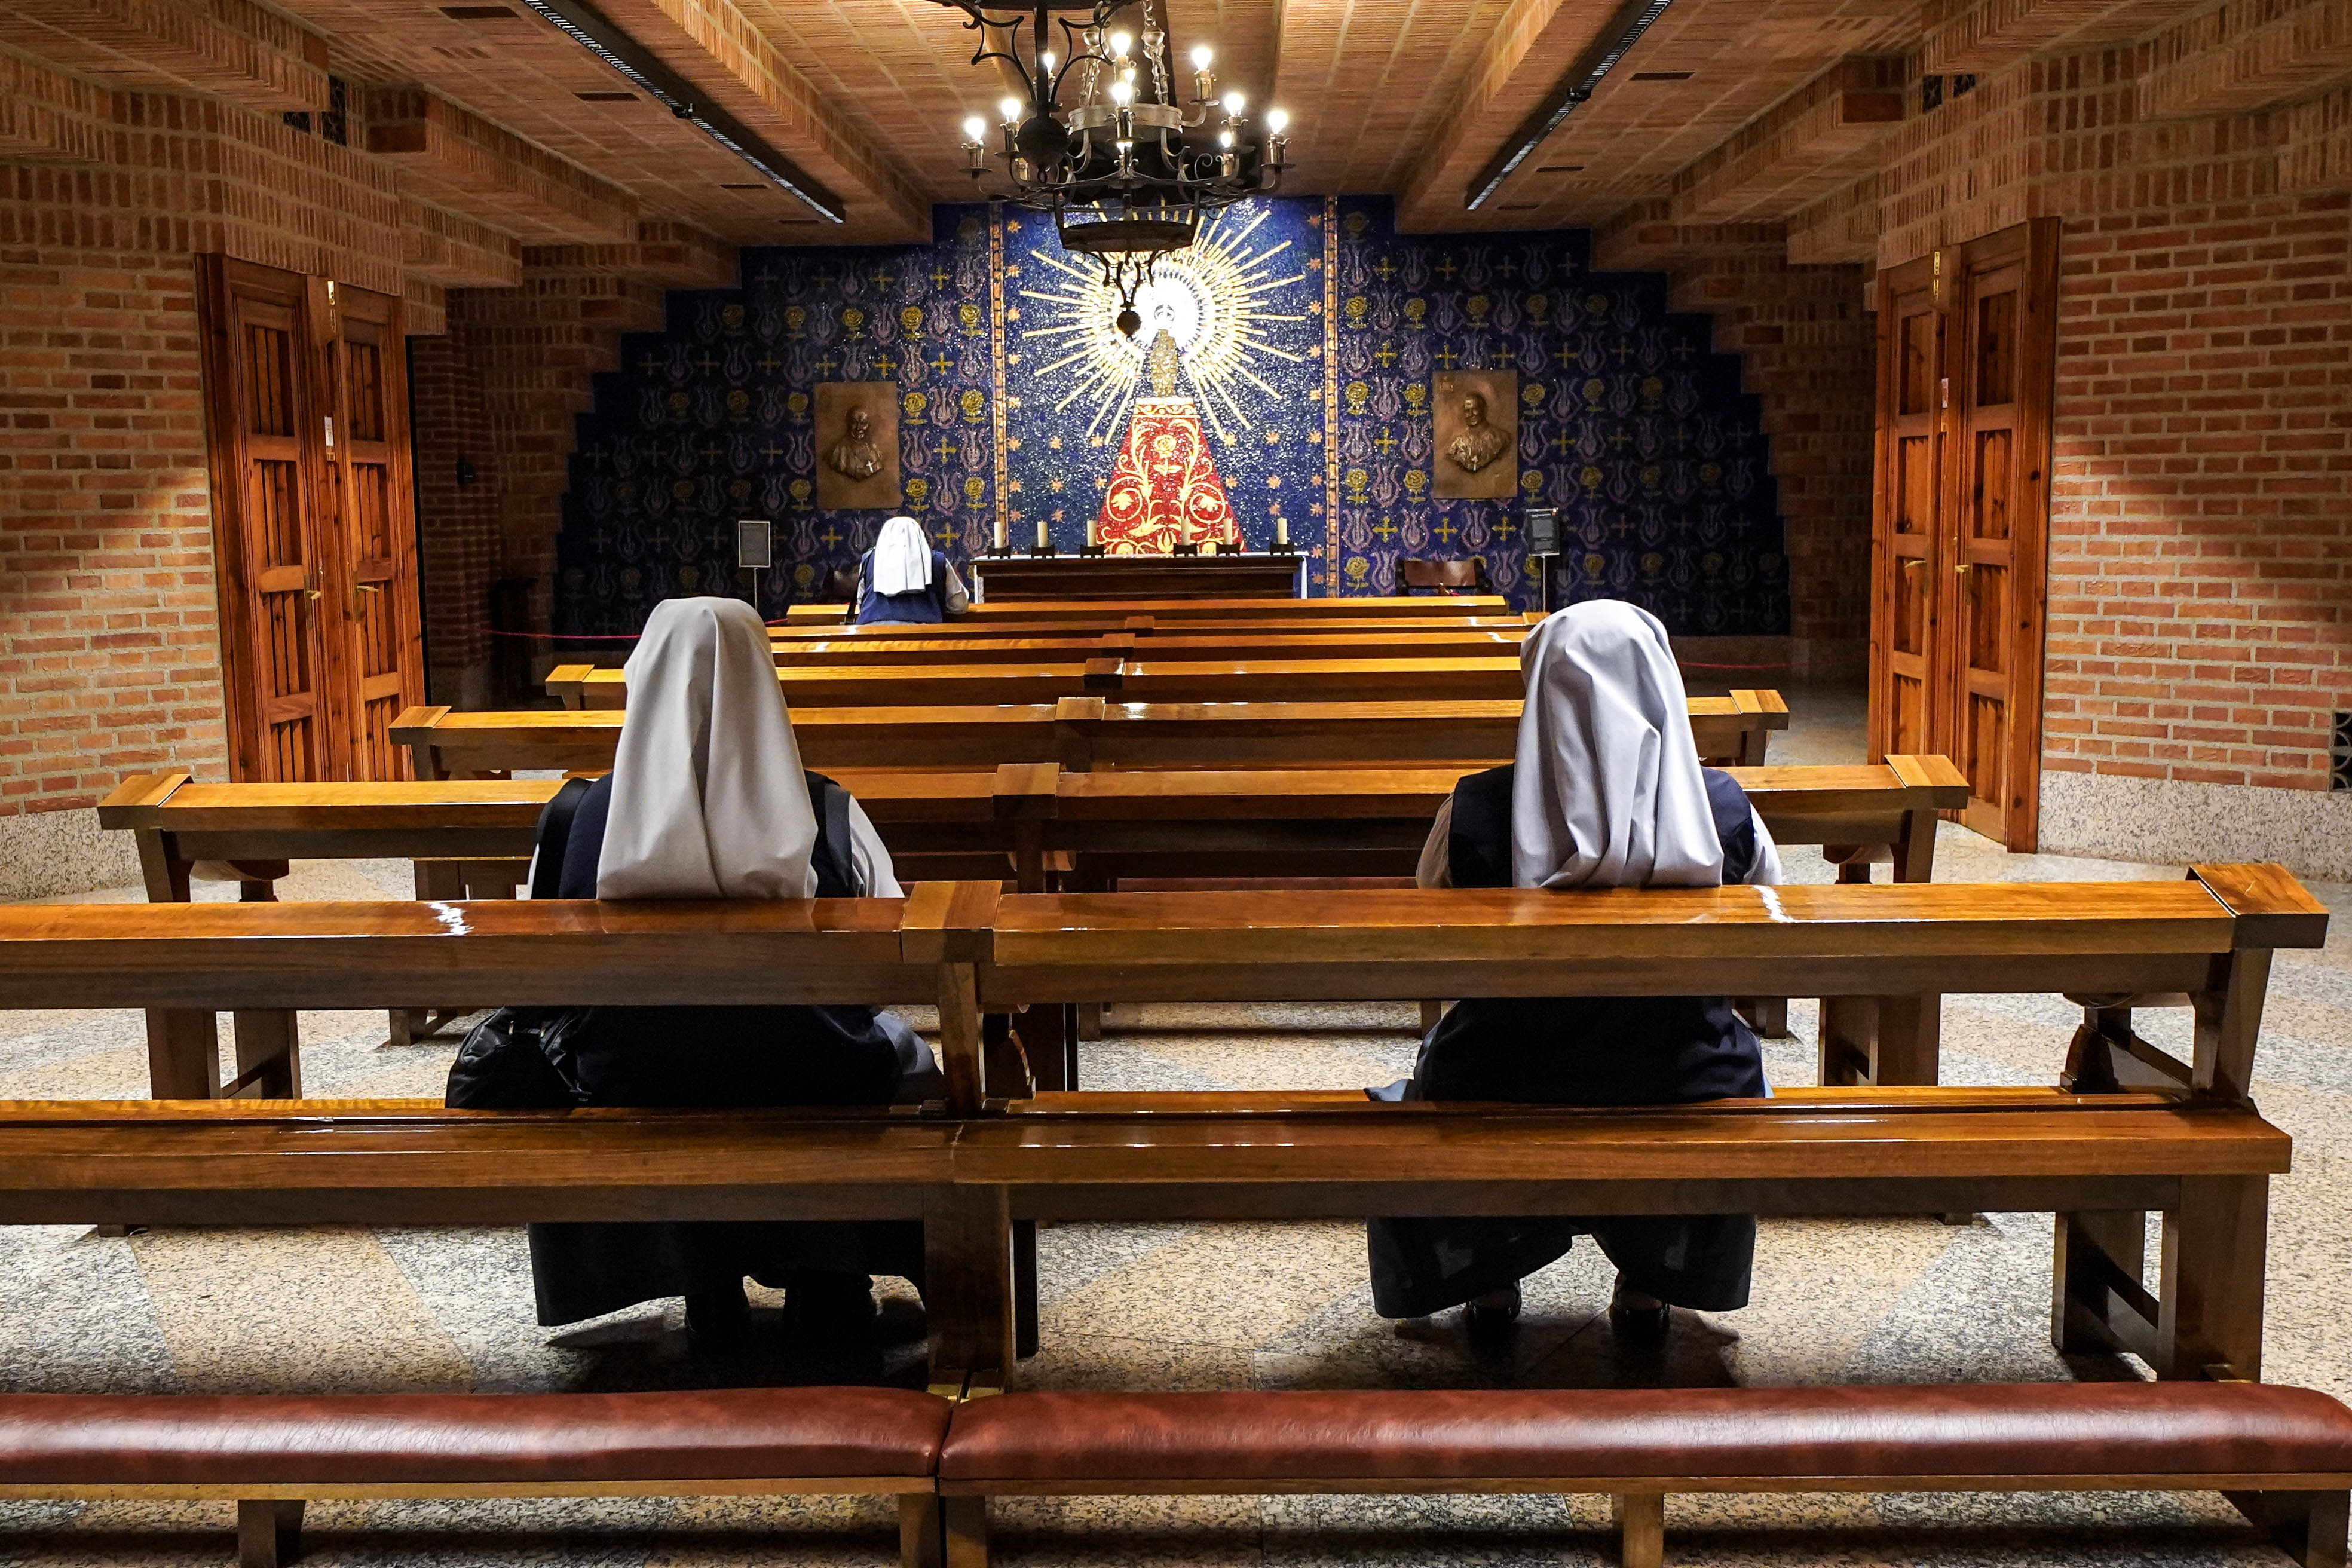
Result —
[[[252,0],[9,0],[0,42],[108,87],[327,108],[327,40]]]

